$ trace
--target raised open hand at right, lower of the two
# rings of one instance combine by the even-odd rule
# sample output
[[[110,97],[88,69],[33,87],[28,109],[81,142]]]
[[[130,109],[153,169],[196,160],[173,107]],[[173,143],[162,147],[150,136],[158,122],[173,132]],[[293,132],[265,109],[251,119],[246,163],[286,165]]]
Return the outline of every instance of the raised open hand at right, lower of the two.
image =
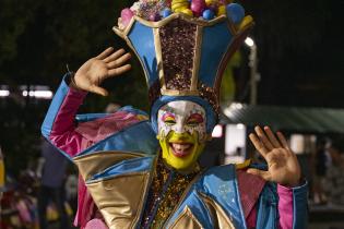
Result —
[[[300,182],[301,171],[296,155],[290,150],[287,141],[281,132],[277,137],[265,126],[254,128],[256,134],[249,135],[256,149],[268,162],[268,171],[248,169],[247,172],[257,174],[266,181],[273,181],[286,186],[297,186]]]

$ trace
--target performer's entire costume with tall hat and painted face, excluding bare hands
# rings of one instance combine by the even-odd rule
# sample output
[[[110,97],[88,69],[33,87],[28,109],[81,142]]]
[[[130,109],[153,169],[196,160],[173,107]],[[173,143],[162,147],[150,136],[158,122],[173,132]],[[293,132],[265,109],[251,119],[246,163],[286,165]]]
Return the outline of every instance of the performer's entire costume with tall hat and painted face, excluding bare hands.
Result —
[[[109,228],[305,228],[307,184],[266,183],[245,171],[254,165],[193,164],[217,122],[225,64],[252,20],[237,4],[227,5],[232,17],[223,3],[213,19],[211,3],[192,2],[140,1],[114,28],[143,65],[150,116],[131,107],[75,116],[86,93],[68,86],[70,75],[56,93],[41,131],[85,181],[76,222],[87,227],[98,208]]]

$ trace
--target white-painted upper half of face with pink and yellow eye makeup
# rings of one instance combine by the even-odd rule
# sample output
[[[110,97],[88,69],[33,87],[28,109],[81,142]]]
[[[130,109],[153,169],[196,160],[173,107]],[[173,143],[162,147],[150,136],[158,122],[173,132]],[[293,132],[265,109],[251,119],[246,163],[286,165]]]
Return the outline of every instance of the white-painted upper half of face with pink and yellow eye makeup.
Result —
[[[205,142],[205,110],[200,105],[188,101],[170,101],[158,110],[157,114],[158,135],[164,138],[170,131],[175,133],[198,132],[199,142]]]

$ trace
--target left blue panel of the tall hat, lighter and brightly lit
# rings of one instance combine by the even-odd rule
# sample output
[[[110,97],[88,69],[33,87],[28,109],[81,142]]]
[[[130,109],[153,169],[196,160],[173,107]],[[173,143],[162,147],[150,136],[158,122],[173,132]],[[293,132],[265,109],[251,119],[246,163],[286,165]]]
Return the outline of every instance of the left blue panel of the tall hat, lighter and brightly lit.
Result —
[[[135,21],[128,38],[140,58],[151,86],[158,79],[153,28]]]

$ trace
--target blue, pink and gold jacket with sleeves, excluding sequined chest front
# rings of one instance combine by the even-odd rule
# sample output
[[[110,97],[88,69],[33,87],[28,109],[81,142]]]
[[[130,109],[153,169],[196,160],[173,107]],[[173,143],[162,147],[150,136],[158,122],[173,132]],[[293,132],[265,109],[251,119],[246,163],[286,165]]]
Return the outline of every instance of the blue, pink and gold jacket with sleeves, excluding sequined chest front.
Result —
[[[155,133],[147,117],[130,107],[111,114],[75,116],[84,97],[85,93],[70,88],[63,81],[41,126],[43,134],[61,153],[76,164],[84,162],[80,169],[86,178],[87,189],[98,192],[98,196],[92,198],[84,182],[80,181],[75,222],[84,228],[96,217],[94,200],[100,213],[110,208],[109,213],[103,213],[105,218],[110,214],[110,228],[140,227],[144,224],[149,190],[158,157]],[[256,193],[258,200],[253,196],[253,200],[244,201],[252,198],[245,193],[254,184],[238,185],[242,173],[244,170],[238,172],[233,165],[199,171],[198,177],[188,183],[188,190],[178,200],[178,207],[164,227],[306,227],[307,184],[288,189],[253,179],[251,182],[264,188]],[[244,174],[240,181],[249,178],[250,174]],[[95,188],[98,184],[100,190]]]

